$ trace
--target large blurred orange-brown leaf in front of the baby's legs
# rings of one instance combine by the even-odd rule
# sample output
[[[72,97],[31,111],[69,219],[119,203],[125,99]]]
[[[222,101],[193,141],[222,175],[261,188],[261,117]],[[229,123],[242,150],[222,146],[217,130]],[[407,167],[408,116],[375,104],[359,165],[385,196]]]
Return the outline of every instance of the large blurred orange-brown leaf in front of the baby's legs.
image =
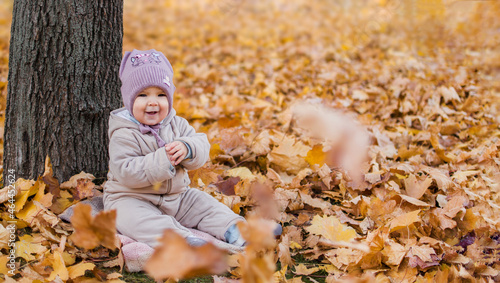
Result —
[[[168,264],[165,264],[168,263]],[[160,245],[146,262],[145,271],[159,279],[184,279],[226,271],[226,252],[208,243],[191,247],[172,230],[165,230]]]

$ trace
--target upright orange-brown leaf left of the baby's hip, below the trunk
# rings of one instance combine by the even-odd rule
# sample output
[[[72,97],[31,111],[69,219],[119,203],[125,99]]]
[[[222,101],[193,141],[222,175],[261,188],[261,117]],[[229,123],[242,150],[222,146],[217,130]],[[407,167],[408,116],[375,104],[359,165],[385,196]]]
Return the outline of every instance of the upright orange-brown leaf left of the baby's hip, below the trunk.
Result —
[[[84,249],[93,249],[99,245],[114,250],[116,235],[116,210],[101,211],[95,217],[90,214],[88,204],[77,204],[71,223],[75,232],[70,239]]]

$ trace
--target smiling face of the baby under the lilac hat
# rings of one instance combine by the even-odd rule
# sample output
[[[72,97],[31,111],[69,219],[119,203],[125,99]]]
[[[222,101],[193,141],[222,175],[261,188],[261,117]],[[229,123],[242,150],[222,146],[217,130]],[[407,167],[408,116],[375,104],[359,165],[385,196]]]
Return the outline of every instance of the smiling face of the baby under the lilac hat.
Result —
[[[132,115],[145,125],[156,125],[168,115],[167,94],[159,87],[143,89],[134,101]]]

